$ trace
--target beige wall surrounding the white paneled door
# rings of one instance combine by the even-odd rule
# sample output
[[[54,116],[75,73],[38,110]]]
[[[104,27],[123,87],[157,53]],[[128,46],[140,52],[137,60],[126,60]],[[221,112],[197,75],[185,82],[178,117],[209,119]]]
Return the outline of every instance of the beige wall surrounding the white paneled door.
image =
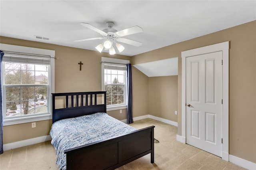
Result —
[[[230,41],[229,152],[256,163],[256,21],[132,57],[133,64],[178,57],[178,134],[181,135],[181,52]]]

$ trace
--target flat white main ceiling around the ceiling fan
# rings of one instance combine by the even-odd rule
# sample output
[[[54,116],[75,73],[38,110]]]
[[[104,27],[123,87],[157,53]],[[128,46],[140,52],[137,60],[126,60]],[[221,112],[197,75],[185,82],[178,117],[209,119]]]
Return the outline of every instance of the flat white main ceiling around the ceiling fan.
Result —
[[[122,44],[121,54],[128,56],[253,20],[254,0],[0,0],[1,36],[96,50],[104,40],[73,42],[100,36],[80,22],[104,29],[107,21],[113,21],[118,31],[140,26],[142,33],[124,37],[143,43]]]

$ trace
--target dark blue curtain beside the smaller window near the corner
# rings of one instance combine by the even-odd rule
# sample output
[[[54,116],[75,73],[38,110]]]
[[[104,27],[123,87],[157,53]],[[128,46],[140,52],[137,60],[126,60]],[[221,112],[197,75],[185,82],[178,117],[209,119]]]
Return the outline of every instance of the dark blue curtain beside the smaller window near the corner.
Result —
[[[127,91],[128,91],[128,102],[127,102],[127,123],[133,123],[132,119],[132,65],[127,64]]]

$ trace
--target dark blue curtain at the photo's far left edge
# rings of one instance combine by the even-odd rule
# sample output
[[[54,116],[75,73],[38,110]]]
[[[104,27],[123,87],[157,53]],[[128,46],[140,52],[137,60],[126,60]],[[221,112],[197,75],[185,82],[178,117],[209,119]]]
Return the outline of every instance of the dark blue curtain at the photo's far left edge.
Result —
[[[1,57],[0,57],[0,73],[2,69],[2,58],[4,56],[4,52],[1,52]],[[3,148],[3,114],[2,114],[2,76],[0,78],[0,154],[4,153],[4,148]]]

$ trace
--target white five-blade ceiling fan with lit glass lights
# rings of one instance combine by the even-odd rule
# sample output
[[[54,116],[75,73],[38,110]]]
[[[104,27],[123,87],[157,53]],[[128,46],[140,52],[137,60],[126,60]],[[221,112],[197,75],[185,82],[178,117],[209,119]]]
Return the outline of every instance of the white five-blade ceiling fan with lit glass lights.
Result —
[[[86,38],[86,39],[81,39],[81,40],[74,40],[74,42],[83,42],[83,41],[89,41],[89,40],[102,40],[102,39],[107,39],[104,43],[100,43],[97,47],[95,47],[99,52],[101,52],[103,50],[103,48],[105,47],[105,49],[109,49],[109,54],[113,55],[116,53],[115,49],[114,49],[114,44],[116,45],[116,48],[118,49],[119,52],[122,52],[124,50],[124,46],[121,45],[118,42],[121,43],[126,43],[126,44],[130,44],[130,45],[134,45],[136,47],[139,47],[140,45],[142,45],[141,42],[137,42],[134,40],[129,40],[127,38],[122,38],[123,36],[128,36],[131,34],[136,34],[136,33],[140,33],[143,32],[142,28],[140,28],[139,26],[133,26],[131,28],[127,28],[121,31],[117,31],[114,28],[112,28],[114,26],[114,22],[107,22],[107,26],[108,28],[104,29],[104,30],[100,30],[94,26],[92,26],[91,24],[88,23],[80,23],[82,26],[85,26],[87,28],[90,28],[91,30],[98,32],[101,34],[102,37],[97,37],[97,38]]]

